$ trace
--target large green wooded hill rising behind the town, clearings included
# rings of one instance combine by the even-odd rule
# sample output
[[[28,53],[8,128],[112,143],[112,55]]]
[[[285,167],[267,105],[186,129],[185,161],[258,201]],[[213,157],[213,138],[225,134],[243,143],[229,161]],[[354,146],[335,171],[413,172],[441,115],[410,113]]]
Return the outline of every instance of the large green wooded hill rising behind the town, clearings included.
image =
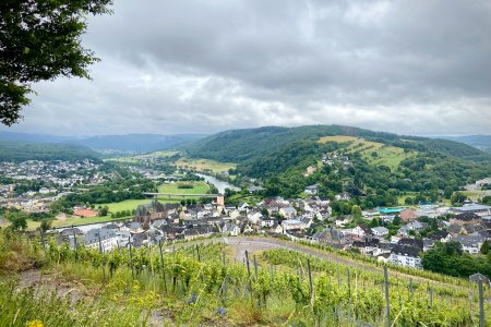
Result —
[[[239,164],[236,181],[262,180],[265,196],[295,197],[318,184],[321,196],[347,193],[350,205],[362,207],[397,205],[406,196],[408,203],[438,201],[443,191],[452,195],[491,175],[490,155],[462,143],[338,125],[228,131],[184,149],[193,157]],[[335,154],[349,162],[322,162]],[[316,170],[308,174],[311,166]]]

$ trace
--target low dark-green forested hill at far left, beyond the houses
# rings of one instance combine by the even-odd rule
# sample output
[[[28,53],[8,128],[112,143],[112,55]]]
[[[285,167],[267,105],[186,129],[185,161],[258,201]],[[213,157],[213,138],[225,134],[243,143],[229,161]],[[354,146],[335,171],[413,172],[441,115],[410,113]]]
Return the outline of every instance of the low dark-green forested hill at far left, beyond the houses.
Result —
[[[73,144],[0,140],[0,161],[99,160],[94,150]]]

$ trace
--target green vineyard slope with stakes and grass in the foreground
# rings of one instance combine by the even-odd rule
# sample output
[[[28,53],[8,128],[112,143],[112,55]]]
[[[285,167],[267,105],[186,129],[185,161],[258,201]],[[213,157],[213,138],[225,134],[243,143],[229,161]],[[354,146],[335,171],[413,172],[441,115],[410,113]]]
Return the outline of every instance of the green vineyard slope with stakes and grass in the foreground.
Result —
[[[280,249],[236,263],[218,241],[100,253],[5,233],[1,240],[0,253],[99,289],[73,303],[0,277],[2,326],[479,325],[478,288],[463,280],[423,283],[392,269],[384,276]],[[484,318],[491,323],[491,315]]]

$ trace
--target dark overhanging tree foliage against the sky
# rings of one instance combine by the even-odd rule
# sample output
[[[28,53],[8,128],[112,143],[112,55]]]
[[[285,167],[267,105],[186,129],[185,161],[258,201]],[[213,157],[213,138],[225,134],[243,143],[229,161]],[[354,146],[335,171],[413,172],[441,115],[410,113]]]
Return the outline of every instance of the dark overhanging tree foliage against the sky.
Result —
[[[88,78],[98,59],[81,45],[88,14],[111,0],[0,1],[0,122],[11,125],[29,102],[32,83],[58,76]]]

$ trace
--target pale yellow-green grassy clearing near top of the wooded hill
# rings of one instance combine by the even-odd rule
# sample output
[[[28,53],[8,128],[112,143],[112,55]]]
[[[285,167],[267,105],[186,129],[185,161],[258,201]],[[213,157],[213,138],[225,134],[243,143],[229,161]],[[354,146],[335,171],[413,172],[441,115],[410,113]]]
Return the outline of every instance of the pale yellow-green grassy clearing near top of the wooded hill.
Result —
[[[386,166],[391,170],[395,170],[399,164],[406,159],[416,156],[416,152],[404,152],[403,148],[386,145],[379,142],[371,142],[360,137],[354,136],[324,136],[319,140],[320,143],[337,142],[349,143],[345,148],[347,154],[360,153],[370,165],[373,166]],[[373,156],[373,153],[376,156]]]

